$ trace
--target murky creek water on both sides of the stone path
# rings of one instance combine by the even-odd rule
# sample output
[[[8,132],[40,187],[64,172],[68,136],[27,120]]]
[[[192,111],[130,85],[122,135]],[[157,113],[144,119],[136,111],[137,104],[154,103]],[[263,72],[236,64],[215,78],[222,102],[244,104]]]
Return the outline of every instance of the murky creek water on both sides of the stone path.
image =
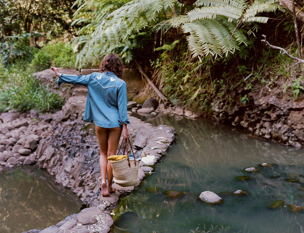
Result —
[[[213,232],[303,233],[304,211],[288,208],[304,207],[303,149],[254,139],[203,119],[141,118],[173,126],[176,139],[139,189],[113,210],[112,232],[188,233],[223,226],[229,231]],[[245,172],[247,167],[259,172]],[[5,169],[0,184],[1,233],[46,228],[78,213],[81,206],[74,194],[36,166]],[[200,200],[206,190],[223,202]],[[248,194],[232,195],[236,190]],[[180,196],[170,197],[167,191]]]

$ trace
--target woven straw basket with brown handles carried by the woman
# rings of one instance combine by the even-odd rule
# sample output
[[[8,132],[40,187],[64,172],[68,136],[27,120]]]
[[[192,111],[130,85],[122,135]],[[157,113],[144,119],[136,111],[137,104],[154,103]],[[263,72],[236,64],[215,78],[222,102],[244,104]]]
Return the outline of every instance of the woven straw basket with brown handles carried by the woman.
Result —
[[[129,144],[133,153],[133,149],[130,143]],[[119,147],[119,150],[123,144],[123,141]],[[127,151],[128,158],[124,158],[118,161],[111,161],[111,166],[113,169],[113,181],[122,187],[134,186],[138,183],[137,175],[138,175],[138,165],[139,161],[134,159],[129,159],[129,153],[127,147],[127,140],[125,139],[125,150]],[[125,151],[124,151],[125,152]],[[119,151],[118,153],[119,154]],[[133,153],[134,155],[134,153]]]

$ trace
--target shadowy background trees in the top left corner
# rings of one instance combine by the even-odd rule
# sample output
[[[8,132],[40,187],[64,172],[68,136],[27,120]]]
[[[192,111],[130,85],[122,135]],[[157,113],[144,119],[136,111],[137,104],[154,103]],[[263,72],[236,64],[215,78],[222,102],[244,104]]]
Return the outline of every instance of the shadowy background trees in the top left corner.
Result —
[[[5,36],[24,32],[47,32],[49,37],[74,33],[70,27],[72,5],[69,0],[0,0],[0,42]]]

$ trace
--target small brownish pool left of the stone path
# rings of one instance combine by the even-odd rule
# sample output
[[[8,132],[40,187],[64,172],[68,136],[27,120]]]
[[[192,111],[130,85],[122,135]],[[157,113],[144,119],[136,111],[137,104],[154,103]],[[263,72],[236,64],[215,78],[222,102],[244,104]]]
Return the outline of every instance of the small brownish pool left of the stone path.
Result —
[[[78,213],[81,201],[36,166],[18,166],[0,174],[0,232],[43,229]]]

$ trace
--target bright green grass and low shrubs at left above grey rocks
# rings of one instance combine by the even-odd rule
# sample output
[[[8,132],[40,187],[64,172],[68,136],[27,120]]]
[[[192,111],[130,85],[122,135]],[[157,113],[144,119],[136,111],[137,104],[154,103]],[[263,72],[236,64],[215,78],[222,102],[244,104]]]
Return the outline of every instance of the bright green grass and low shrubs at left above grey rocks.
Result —
[[[2,43],[2,47],[5,45]],[[40,80],[32,74],[49,69],[51,65],[74,68],[76,54],[72,45],[56,42],[34,50],[23,37],[15,38],[10,45],[0,53],[0,113],[8,109],[21,112],[35,109],[40,113],[60,109],[64,104],[63,97],[49,86],[40,85]],[[23,50],[31,53],[23,53]],[[21,51],[22,56],[10,56],[16,51]],[[8,60],[9,57],[13,59]]]

